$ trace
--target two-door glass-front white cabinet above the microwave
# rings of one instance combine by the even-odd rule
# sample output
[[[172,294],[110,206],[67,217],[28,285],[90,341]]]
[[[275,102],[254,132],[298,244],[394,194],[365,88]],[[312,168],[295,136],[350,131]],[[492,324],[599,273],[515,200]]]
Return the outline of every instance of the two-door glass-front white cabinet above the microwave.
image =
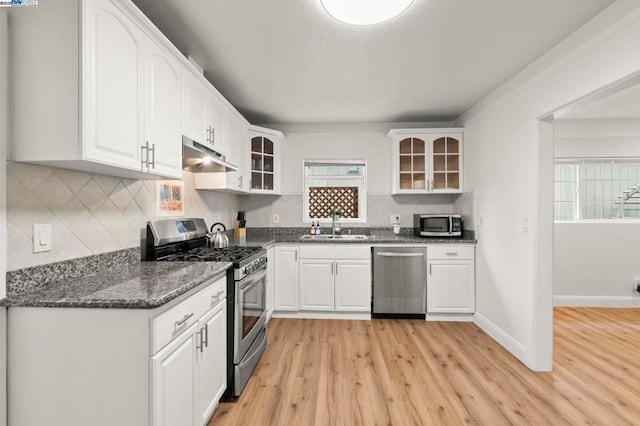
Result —
[[[393,193],[458,193],[462,129],[392,129]]]

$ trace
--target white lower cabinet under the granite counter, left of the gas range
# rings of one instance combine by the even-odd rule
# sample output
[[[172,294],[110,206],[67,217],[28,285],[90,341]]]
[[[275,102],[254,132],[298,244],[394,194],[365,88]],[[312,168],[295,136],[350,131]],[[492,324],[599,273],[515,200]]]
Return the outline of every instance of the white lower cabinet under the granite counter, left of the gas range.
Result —
[[[227,382],[226,282],[152,310],[9,308],[8,424],[206,425]]]

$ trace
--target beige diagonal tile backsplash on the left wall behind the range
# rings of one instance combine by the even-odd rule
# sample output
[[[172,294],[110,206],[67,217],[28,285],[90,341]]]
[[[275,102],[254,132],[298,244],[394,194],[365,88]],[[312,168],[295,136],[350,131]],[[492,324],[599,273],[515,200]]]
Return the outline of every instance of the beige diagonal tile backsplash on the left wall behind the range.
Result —
[[[185,216],[232,225],[239,197],[196,191],[184,173]],[[155,180],[131,180],[26,163],[7,166],[7,269],[139,247],[156,215]],[[53,250],[33,253],[33,225],[50,223]]]

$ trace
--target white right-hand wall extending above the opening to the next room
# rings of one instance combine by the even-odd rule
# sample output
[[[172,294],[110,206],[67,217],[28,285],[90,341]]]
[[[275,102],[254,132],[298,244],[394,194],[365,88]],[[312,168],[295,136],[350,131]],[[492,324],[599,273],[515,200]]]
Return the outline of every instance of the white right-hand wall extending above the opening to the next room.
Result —
[[[619,0],[458,120],[477,199],[476,323],[536,370],[551,368],[553,340],[553,138],[539,144],[539,118],[639,72],[638,40],[640,2]]]

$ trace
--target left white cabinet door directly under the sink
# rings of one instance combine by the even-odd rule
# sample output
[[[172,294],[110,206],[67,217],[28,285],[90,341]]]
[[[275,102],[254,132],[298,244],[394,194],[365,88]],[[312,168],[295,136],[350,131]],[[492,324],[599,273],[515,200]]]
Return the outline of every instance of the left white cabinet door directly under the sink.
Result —
[[[300,260],[300,310],[333,311],[335,262]]]

